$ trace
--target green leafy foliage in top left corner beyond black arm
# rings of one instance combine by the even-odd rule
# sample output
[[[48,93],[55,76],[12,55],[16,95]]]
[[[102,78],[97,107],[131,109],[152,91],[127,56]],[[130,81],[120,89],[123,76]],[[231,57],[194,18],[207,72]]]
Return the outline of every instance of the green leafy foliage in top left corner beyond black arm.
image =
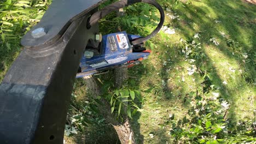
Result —
[[[44,12],[51,1],[19,1],[7,0],[0,2],[0,44],[11,50],[11,47],[19,45],[19,40],[30,30],[30,27],[36,25],[42,18]],[[19,39],[17,39],[17,36]]]

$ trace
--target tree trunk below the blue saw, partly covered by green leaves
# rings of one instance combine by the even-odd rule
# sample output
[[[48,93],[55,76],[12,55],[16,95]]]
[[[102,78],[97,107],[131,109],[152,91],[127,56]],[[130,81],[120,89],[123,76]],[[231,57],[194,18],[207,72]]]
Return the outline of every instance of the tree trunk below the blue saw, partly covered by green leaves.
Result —
[[[97,84],[97,81],[94,76],[86,76],[83,77],[86,86],[88,87],[88,91],[94,95],[94,97],[97,97],[98,95],[101,95],[100,87]],[[115,69],[115,86],[117,88],[120,88],[127,78],[127,67],[121,67],[118,69]],[[106,121],[113,125],[115,131],[117,131],[119,140],[122,144],[134,144],[135,138],[133,131],[131,129],[130,121],[127,116],[124,116],[123,119],[125,119],[124,123],[117,121],[117,116],[113,115],[111,113],[110,104],[107,100],[101,99],[101,102],[103,105],[99,106],[100,111]]]

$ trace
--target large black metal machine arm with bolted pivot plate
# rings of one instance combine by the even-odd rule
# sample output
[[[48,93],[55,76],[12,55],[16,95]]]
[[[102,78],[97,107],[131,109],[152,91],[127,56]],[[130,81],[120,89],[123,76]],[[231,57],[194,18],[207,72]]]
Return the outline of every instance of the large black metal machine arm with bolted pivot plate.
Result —
[[[22,38],[25,49],[0,85],[1,144],[63,143],[79,62],[89,39],[95,40],[99,33],[97,21],[86,26],[102,2],[55,0],[38,25]],[[125,4],[135,2],[156,3],[128,0]],[[164,20],[162,9],[160,13],[159,26]]]

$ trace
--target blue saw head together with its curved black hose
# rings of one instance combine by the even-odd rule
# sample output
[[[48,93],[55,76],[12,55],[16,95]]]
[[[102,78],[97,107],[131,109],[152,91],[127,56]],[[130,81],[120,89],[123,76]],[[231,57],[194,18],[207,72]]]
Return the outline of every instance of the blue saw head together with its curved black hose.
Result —
[[[90,17],[88,26],[93,22],[102,19],[105,15],[109,14],[113,10],[125,7],[131,3],[139,1],[118,1],[108,5],[106,8],[98,11]],[[117,67],[132,67],[139,64],[143,59],[147,59],[150,50],[146,50],[143,46],[144,41],[154,37],[158,33],[164,23],[164,11],[161,6],[155,1],[142,1],[154,5],[159,9],[161,19],[158,27],[146,38],[139,35],[127,34],[126,32],[118,32],[107,35],[96,34],[94,44],[93,40],[86,46],[84,56],[80,61],[78,77],[84,77],[92,74],[101,73],[104,70],[114,69]],[[93,46],[94,44],[94,46]],[[96,46],[95,46],[96,45]]]

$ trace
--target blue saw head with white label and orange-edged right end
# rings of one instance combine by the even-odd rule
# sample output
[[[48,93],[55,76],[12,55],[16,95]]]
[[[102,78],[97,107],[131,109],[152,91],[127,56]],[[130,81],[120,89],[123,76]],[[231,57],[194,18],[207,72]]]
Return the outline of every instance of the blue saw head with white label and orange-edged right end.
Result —
[[[77,78],[102,72],[118,67],[132,67],[147,59],[150,50],[143,44],[131,45],[129,41],[140,38],[138,35],[126,32],[99,35],[102,42],[98,49],[86,47],[84,56],[79,64]]]

